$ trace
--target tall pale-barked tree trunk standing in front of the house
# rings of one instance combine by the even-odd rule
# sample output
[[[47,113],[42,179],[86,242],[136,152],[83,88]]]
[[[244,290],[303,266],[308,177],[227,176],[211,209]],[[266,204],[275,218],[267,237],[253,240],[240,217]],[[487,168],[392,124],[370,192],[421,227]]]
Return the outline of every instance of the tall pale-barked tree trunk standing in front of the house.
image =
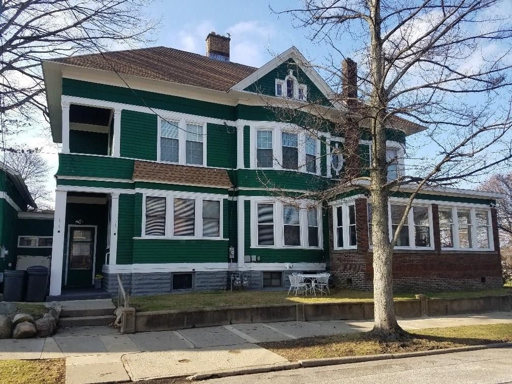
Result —
[[[373,241],[373,296],[375,325],[370,333],[379,339],[397,339],[407,335],[396,322],[393,304],[393,247],[390,244],[388,225],[388,190],[386,162],[386,126],[383,121],[387,106],[384,88],[382,39],[380,35],[380,0],[368,0],[372,22],[370,23],[370,73],[372,92],[370,109],[373,121],[372,167],[370,190],[372,194],[372,241]]]

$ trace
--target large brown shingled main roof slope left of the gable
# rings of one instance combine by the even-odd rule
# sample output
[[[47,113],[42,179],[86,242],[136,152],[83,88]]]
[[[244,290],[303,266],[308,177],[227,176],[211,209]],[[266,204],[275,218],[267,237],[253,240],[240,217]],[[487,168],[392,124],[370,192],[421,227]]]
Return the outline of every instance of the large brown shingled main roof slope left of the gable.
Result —
[[[103,57],[103,55],[106,57]],[[227,92],[257,68],[174,48],[153,47],[70,56],[51,61]]]

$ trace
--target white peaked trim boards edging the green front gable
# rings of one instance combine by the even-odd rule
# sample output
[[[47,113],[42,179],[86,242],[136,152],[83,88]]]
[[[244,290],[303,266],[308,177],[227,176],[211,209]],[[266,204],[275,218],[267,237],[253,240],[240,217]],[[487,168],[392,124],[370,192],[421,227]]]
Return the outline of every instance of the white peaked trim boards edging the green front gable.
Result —
[[[304,73],[310,78],[310,80],[313,81],[315,86],[324,94],[325,97],[327,97],[328,99],[332,99],[332,95],[334,94],[332,89],[311,66],[305,65],[306,63],[309,63],[309,61],[306,60],[303,54],[294,46],[288,48],[286,51],[284,51],[280,55],[274,57],[272,60],[264,64],[257,71],[251,73],[246,78],[234,84],[234,86],[231,87],[231,90],[243,91],[244,89],[249,87],[250,84],[252,84],[255,81],[258,81],[260,78],[265,76],[274,68],[280,66],[289,58],[293,58],[297,62],[297,65],[304,71]]]

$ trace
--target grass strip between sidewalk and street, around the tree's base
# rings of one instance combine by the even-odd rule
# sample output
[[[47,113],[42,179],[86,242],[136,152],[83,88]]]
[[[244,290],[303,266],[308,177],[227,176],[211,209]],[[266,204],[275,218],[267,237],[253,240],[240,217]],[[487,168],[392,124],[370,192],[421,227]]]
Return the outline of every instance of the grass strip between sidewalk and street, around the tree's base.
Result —
[[[381,343],[367,333],[307,337],[259,344],[290,361],[310,358],[415,352],[512,341],[512,324],[418,329],[409,340]]]

